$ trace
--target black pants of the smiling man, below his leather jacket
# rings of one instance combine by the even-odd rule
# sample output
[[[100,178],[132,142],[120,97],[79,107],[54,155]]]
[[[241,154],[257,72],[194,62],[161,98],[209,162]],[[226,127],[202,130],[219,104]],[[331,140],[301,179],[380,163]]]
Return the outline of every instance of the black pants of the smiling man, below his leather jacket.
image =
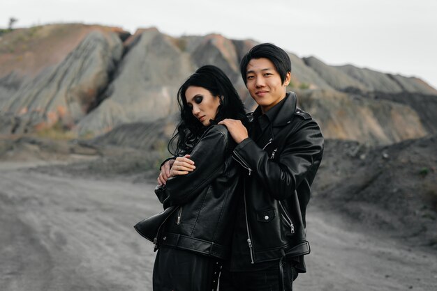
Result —
[[[252,272],[230,272],[222,269],[220,291],[291,291],[297,272],[290,262],[283,262],[283,276],[279,263],[268,269]],[[283,281],[283,283],[281,283]]]

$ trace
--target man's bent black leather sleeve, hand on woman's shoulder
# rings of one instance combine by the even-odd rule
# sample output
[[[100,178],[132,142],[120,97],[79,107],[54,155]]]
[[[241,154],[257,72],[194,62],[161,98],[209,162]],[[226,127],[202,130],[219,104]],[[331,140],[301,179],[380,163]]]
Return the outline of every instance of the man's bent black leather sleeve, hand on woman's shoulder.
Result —
[[[323,136],[314,120],[304,122],[284,143],[278,161],[269,159],[267,152],[252,139],[239,143],[232,153],[232,157],[249,168],[253,178],[277,200],[289,198],[299,184],[317,170],[323,155]]]

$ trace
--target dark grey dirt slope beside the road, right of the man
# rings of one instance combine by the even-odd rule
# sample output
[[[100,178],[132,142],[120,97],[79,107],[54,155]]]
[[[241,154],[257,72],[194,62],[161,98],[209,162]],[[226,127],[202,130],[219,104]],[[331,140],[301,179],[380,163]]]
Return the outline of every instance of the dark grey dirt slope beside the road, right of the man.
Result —
[[[437,249],[437,136],[366,147],[327,140],[313,203],[374,233]]]

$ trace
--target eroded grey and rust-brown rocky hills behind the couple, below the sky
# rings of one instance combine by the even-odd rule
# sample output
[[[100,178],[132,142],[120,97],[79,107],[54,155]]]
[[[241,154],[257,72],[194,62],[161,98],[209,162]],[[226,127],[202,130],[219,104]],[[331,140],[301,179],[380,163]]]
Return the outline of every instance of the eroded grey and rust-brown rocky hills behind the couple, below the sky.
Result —
[[[174,122],[177,88],[204,64],[222,68],[253,109],[238,66],[255,43],[216,34],[173,38],[154,28],[130,35],[83,24],[3,33],[0,134],[61,125],[98,136],[129,123]],[[424,81],[290,58],[289,89],[299,91],[302,107],[328,138],[378,145],[437,132],[437,91]]]

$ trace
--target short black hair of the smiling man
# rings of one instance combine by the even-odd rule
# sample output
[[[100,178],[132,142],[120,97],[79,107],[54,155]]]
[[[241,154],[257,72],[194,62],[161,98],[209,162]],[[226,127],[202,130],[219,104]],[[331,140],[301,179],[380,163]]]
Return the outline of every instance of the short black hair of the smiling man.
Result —
[[[251,50],[243,56],[241,63],[239,63],[239,70],[242,73],[242,78],[244,84],[247,84],[246,71],[247,65],[253,58],[267,58],[271,61],[276,71],[279,72],[282,84],[286,81],[287,72],[291,72],[291,61],[290,56],[281,49],[281,47],[276,47],[272,43],[261,43],[260,45],[255,45]]]

